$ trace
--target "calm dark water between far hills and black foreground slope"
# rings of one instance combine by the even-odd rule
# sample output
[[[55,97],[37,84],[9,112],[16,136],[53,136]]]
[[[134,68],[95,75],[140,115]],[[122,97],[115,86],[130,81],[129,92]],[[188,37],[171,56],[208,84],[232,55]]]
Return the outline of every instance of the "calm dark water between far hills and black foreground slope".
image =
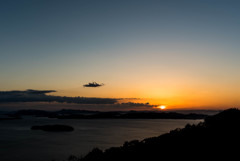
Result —
[[[125,141],[159,136],[202,120],[98,119],[59,120],[25,117],[0,121],[0,161],[62,161],[85,155],[94,147],[106,149]],[[32,131],[33,125],[65,124],[73,132]]]

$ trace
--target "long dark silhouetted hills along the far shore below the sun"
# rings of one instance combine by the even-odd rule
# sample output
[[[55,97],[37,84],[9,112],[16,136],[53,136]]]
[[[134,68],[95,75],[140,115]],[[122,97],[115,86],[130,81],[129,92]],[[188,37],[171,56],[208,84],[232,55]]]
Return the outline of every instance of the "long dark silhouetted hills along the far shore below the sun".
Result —
[[[153,111],[86,111],[86,110],[20,110],[14,116],[34,115],[58,119],[204,119],[204,114],[182,114],[176,112]]]

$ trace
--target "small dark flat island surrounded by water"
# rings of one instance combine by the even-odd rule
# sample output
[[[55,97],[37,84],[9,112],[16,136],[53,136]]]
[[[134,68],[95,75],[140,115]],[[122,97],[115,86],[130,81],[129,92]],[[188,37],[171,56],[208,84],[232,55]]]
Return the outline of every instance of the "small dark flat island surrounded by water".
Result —
[[[43,126],[32,126],[32,130],[43,130],[43,131],[50,131],[50,132],[61,132],[66,131],[70,132],[73,131],[74,128],[68,125],[43,125]]]

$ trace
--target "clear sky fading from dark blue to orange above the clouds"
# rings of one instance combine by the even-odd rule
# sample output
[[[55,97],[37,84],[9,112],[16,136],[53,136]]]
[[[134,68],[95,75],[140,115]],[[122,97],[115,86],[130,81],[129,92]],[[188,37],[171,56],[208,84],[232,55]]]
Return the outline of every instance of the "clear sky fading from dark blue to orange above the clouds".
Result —
[[[1,0],[0,90],[239,107],[239,29],[238,0]]]

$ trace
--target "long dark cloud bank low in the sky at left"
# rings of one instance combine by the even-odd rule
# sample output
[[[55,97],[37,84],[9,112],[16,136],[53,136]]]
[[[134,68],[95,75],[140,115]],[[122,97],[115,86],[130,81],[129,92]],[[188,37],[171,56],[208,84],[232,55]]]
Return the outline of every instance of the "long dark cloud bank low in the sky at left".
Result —
[[[114,98],[61,97],[46,95],[54,90],[0,91],[0,103],[8,102],[59,102],[77,104],[114,104]]]

